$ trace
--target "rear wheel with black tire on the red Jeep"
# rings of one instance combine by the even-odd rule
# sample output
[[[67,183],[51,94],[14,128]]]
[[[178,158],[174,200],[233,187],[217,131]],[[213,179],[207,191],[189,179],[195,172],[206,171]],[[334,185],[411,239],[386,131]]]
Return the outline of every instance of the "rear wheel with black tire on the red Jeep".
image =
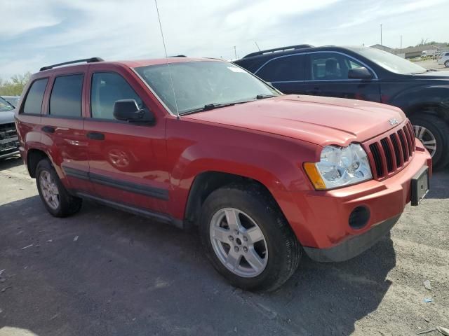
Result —
[[[43,205],[51,215],[67,217],[81,209],[83,200],[69,195],[48,159],[37,164],[36,185]]]

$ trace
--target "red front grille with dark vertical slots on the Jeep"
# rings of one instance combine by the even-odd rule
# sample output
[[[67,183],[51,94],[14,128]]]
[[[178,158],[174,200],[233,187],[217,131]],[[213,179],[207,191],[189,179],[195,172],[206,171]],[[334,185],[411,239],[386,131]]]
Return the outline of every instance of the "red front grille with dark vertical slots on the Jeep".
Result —
[[[387,134],[387,137],[371,141],[368,147],[370,148],[368,157],[371,165],[374,165],[372,168],[375,179],[396,174],[410,162],[415,153],[413,127],[408,122],[405,126]]]

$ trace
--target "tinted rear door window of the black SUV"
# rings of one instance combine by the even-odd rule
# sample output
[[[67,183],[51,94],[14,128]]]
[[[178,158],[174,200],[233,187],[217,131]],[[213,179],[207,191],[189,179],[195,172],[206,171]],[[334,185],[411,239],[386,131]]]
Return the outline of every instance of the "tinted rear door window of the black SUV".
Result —
[[[304,80],[304,66],[301,59],[301,55],[273,59],[257,71],[256,75],[268,82]]]

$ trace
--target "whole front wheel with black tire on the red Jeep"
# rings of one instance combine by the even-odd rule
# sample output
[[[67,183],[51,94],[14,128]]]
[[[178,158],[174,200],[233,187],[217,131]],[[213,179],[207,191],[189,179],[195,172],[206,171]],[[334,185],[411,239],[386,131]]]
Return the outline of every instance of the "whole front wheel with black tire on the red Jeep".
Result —
[[[226,228],[229,224],[228,214],[237,214],[240,221],[238,234],[231,228]],[[225,225],[225,228],[217,226],[217,218],[220,216],[222,216],[220,225]],[[216,228],[220,230],[220,235],[223,232],[224,243],[213,238],[215,233],[212,232],[215,232]],[[262,233],[263,240],[252,244],[250,235],[253,235],[254,241],[257,240],[253,233],[257,232],[255,230],[257,228]],[[211,193],[203,203],[200,236],[206,255],[215,269],[229,283],[243,290],[271,291],[279,288],[293,275],[302,255],[300,243],[277,204],[257,185],[230,185]],[[229,237],[233,237],[233,240],[231,241]],[[244,241],[244,238],[247,241]],[[226,245],[229,245],[227,258]],[[236,247],[239,248],[238,252],[235,250]],[[233,255],[241,255],[240,262],[234,263],[236,265],[234,271],[222,261],[223,258],[229,260],[232,249],[236,253]],[[248,262],[255,260],[254,253],[260,257],[258,260],[262,260],[260,264],[259,262],[254,264],[263,263],[263,267],[253,267]]]

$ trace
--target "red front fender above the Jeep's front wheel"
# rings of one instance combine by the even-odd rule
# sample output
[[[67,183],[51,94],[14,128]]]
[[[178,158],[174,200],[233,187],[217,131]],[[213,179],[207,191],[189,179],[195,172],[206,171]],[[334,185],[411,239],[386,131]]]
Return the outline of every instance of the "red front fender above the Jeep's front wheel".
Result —
[[[195,177],[203,172],[254,179],[276,199],[287,190],[311,190],[302,162],[316,160],[321,152],[320,146],[304,141],[190,120],[167,123],[167,146],[173,167],[170,199],[178,218]]]

